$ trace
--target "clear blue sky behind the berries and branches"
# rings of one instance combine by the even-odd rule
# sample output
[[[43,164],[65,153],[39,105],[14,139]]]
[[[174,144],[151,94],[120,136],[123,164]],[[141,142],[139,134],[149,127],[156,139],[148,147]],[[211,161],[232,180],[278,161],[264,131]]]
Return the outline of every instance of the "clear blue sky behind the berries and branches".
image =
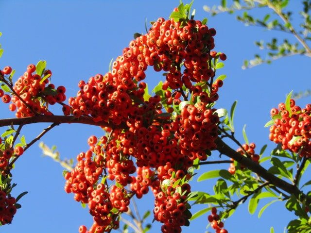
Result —
[[[88,80],[97,73],[106,73],[111,58],[116,58],[129,41],[133,33],[145,33],[145,19],[153,21],[158,17],[167,18],[178,0],[0,0],[0,43],[4,54],[0,67],[12,66],[15,77],[23,74],[29,64],[46,60],[52,70],[52,83],[67,87],[67,97],[75,96],[80,80]],[[216,50],[227,55],[225,68],[220,73],[227,79],[220,91],[217,108],[230,108],[238,100],[235,115],[237,136],[242,140],[242,127],[247,125],[247,135],[260,148],[264,144],[273,148],[269,142],[268,129],[263,125],[269,120],[270,109],[285,100],[292,89],[294,91],[310,88],[310,60],[296,56],[276,61],[273,65],[262,65],[242,70],[242,61],[261,52],[254,41],[269,39],[271,32],[261,28],[244,27],[233,16],[220,15],[210,17],[203,10],[204,4],[216,4],[218,1],[195,0],[196,19],[208,18],[208,27],[217,30]],[[290,7],[295,12],[298,4]],[[264,10],[263,10],[264,11]],[[262,11],[255,11],[260,14]],[[299,18],[297,15],[294,17]],[[282,38],[284,34],[277,33]],[[294,38],[293,38],[294,39]],[[309,65],[309,66],[308,66]],[[163,76],[148,72],[147,82],[152,89]],[[310,98],[298,100],[305,105]],[[7,108],[0,103],[0,107]],[[59,110],[55,109],[55,113]],[[1,110],[1,118],[13,117]],[[30,125],[23,132],[26,141],[47,127],[46,124]],[[4,129],[1,129],[4,130]],[[53,129],[42,139],[49,146],[57,145],[63,158],[74,158],[79,152],[87,150],[89,135],[101,136],[103,131],[94,126],[61,125]],[[269,151],[267,150],[267,151]],[[73,195],[63,190],[62,168],[49,158],[42,158],[42,152],[35,144],[22,155],[14,170],[14,181],[18,184],[13,194],[29,191],[21,201],[22,208],[17,211],[13,224],[0,228],[2,233],[74,233],[82,224],[90,226],[92,218],[87,209],[73,200]],[[209,160],[217,160],[214,152]],[[269,162],[266,162],[269,163]],[[217,167],[202,167],[201,170]],[[222,166],[227,169],[227,165]],[[192,184],[192,190],[211,193],[212,183]],[[139,200],[139,209],[153,209],[151,195]],[[265,202],[263,202],[265,203]],[[262,206],[262,204],[259,204]],[[206,206],[193,207],[194,212]],[[225,221],[230,233],[268,233],[274,226],[276,233],[283,232],[287,222],[294,219],[292,213],[284,208],[284,203],[276,203],[268,208],[258,219],[258,212],[250,216],[247,204],[238,208],[236,213]],[[152,219],[150,219],[151,221]],[[206,231],[207,215],[190,223],[184,232]],[[254,227],[256,226],[256,227]],[[160,224],[154,224],[150,232],[157,233]],[[211,232],[212,229],[209,229]]]

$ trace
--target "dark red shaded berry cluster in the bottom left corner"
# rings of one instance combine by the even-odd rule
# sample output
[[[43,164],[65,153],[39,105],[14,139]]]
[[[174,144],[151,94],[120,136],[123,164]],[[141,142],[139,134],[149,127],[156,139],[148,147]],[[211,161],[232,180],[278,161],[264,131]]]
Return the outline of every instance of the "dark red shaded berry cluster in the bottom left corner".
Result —
[[[0,190],[0,223],[5,225],[11,223],[14,215],[16,214],[16,200],[11,196]]]

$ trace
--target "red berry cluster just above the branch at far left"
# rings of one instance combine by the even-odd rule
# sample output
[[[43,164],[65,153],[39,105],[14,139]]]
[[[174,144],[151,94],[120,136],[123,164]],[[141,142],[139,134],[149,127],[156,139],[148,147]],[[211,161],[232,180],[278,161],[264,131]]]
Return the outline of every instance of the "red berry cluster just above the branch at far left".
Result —
[[[12,99],[10,95],[4,95],[0,90],[0,97],[2,96],[4,103],[9,103],[12,100],[9,108],[12,112],[17,110],[16,117],[34,116],[35,114],[52,115],[46,103],[52,105],[66,100],[64,86],[58,86],[55,90],[54,84],[48,84],[52,76],[51,70],[45,70],[42,75],[34,73],[35,71],[35,65],[31,64],[27,67],[27,71],[19,77],[13,86],[16,95],[13,95]],[[1,72],[4,75],[9,75],[12,68],[4,67]]]

